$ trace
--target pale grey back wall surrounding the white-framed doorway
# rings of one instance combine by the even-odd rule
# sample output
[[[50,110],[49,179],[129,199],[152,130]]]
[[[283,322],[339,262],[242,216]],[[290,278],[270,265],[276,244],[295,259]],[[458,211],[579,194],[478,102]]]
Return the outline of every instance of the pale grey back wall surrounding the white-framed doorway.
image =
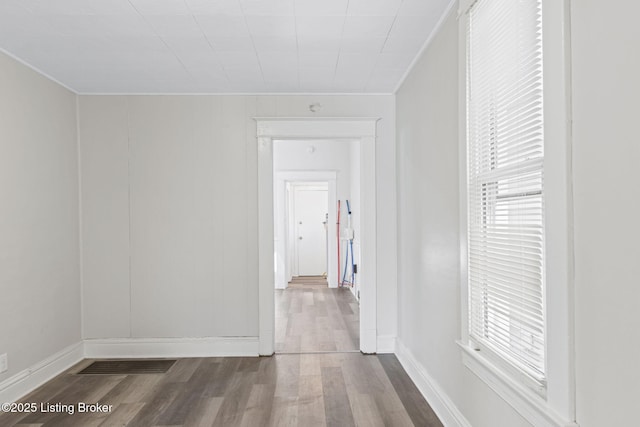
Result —
[[[381,117],[378,334],[395,335],[393,96],[79,100],[86,338],[257,336],[252,118],[318,114]]]

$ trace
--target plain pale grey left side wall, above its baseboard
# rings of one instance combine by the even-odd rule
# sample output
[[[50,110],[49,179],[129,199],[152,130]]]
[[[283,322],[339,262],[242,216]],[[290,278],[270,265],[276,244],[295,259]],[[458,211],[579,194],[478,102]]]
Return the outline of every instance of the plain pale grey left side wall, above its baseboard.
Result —
[[[0,354],[15,375],[80,341],[75,95],[0,53]]]

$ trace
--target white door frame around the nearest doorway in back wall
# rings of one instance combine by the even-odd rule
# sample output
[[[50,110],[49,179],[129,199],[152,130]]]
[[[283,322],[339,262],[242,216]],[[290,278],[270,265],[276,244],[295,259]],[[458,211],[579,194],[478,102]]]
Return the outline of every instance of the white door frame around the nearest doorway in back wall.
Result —
[[[379,118],[255,117],[258,143],[259,352],[275,351],[273,140],[360,141],[361,265],[360,351],[377,350],[376,123]]]

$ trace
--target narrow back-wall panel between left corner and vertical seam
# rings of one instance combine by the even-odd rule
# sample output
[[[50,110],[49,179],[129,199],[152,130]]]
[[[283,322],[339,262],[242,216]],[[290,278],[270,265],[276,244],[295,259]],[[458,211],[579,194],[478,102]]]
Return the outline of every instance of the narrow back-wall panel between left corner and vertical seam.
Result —
[[[80,97],[79,110],[84,335],[126,337],[131,329],[128,112],[114,97]],[[91,114],[94,110],[99,114]]]

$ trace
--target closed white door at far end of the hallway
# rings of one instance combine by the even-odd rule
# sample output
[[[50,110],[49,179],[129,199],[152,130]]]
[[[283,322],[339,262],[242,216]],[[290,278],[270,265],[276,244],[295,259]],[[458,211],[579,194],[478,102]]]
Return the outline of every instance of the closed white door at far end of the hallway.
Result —
[[[327,271],[324,221],[328,191],[298,188],[293,197],[298,275],[320,276]]]

